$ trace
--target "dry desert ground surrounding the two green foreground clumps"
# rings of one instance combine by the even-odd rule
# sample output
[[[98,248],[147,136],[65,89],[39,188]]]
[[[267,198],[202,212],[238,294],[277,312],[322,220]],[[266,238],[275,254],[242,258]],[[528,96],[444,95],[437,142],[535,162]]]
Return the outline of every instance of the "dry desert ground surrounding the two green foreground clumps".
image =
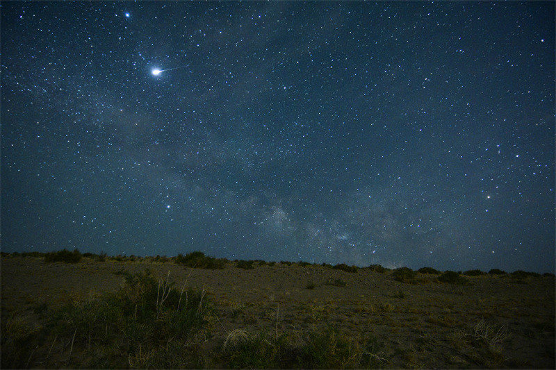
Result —
[[[202,335],[195,337],[195,351],[202,352],[195,355],[202,360],[183,367],[276,367],[279,362],[231,361],[229,351],[247,350],[230,343],[260,333],[302,342],[306,333],[334,330],[338,343],[372,339],[373,346],[361,350],[368,361],[362,365],[347,356],[346,362],[315,367],[555,368],[553,275],[482,274],[465,276],[467,283],[460,285],[443,283],[437,274],[417,274],[407,283],[395,280],[390,270],[349,272],[314,264],[254,262],[253,269],[241,269],[228,261],[224,269],[199,269],[172,261],[83,258],[69,264],[13,255],[3,255],[0,267],[2,368],[103,367],[92,360],[90,333],[88,344],[78,328],[65,337],[50,333],[44,330],[45,312],[117,292],[127,273],[147,269],[159,282],[175,282],[178,290],[185,283],[205,292],[201,300],[211,305]],[[76,337],[82,334],[81,345]],[[313,365],[299,365],[306,366]],[[117,367],[156,367],[156,362],[129,354]]]

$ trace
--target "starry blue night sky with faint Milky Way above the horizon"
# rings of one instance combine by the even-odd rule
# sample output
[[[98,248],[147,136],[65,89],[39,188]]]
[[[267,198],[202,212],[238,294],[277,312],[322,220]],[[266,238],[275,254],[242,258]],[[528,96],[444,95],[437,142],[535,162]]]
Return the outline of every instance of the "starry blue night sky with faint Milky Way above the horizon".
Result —
[[[1,3],[2,251],[554,271],[554,189],[553,2]]]

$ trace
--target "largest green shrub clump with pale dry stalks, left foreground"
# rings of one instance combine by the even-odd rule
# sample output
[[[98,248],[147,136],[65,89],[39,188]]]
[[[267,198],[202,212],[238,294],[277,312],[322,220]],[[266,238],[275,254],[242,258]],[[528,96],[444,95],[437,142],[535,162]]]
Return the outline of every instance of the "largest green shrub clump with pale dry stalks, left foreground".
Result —
[[[210,310],[204,292],[177,289],[149,272],[124,276],[118,292],[44,312],[33,340],[25,337],[28,351],[19,348],[24,356],[5,361],[14,348],[3,342],[1,367],[199,367],[197,337]],[[13,345],[21,346],[17,337]]]

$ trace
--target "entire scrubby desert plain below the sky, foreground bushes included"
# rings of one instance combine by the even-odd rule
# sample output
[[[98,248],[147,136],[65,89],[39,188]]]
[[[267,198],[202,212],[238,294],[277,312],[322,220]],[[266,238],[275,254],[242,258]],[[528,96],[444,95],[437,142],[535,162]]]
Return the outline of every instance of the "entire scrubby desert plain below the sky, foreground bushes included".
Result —
[[[108,262],[99,265],[95,261],[102,255]],[[264,266],[274,262],[263,260],[233,264],[262,266],[252,273],[215,274],[174,265],[187,265],[186,255],[120,255],[115,263],[105,253],[83,253],[84,262],[75,268],[44,264],[39,258],[46,260],[46,253],[1,256],[0,368],[553,368],[554,363],[546,341],[555,332],[553,274],[518,270],[501,278],[482,273],[466,279],[479,270],[425,276],[417,272],[436,270],[402,268],[379,275],[370,271],[389,270],[373,265],[354,275],[327,264],[322,266],[330,269],[301,269],[300,262],[270,269]],[[171,265],[161,265],[164,261]],[[147,267],[156,274],[130,274]],[[31,271],[42,274],[37,280],[44,283],[44,294],[37,285],[19,283],[22,274],[28,275],[22,282],[35,278]],[[83,279],[83,272],[90,275]],[[185,283],[171,282],[176,273]],[[190,276],[202,290],[187,289]],[[395,283],[398,276],[420,285]],[[432,283],[460,279],[480,289]],[[362,321],[346,319],[354,316]],[[359,330],[360,322],[370,325]],[[367,333],[380,333],[388,345]],[[402,343],[397,335],[411,339]],[[519,346],[529,349],[516,351]]]

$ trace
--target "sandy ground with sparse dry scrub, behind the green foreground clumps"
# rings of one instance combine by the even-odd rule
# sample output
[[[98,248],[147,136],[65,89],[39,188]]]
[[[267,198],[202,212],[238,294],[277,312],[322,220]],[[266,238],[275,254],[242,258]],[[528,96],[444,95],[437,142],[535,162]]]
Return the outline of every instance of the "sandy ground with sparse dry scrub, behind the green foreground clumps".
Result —
[[[256,263],[255,263],[256,265]],[[496,351],[504,367],[555,368],[555,280],[509,276],[468,277],[468,285],[449,285],[436,276],[419,275],[411,285],[384,274],[354,273],[322,266],[275,264],[224,270],[190,269],[166,263],[44,263],[41,258],[1,259],[1,314],[20,314],[40,303],[49,308],[115,291],[122,271],[150,269],[181,287],[206,289],[213,302],[215,337],[231,330],[292,334],[334,326],[345,335],[373,335],[384,344],[384,367],[461,368],[488,348],[502,329]],[[345,286],[330,285],[342,280]],[[308,289],[314,283],[313,289]],[[401,292],[401,294],[400,294]],[[468,344],[477,324],[491,329],[480,344]],[[484,333],[484,332],[482,332]],[[488,354],[484,355],[488,356]]]

